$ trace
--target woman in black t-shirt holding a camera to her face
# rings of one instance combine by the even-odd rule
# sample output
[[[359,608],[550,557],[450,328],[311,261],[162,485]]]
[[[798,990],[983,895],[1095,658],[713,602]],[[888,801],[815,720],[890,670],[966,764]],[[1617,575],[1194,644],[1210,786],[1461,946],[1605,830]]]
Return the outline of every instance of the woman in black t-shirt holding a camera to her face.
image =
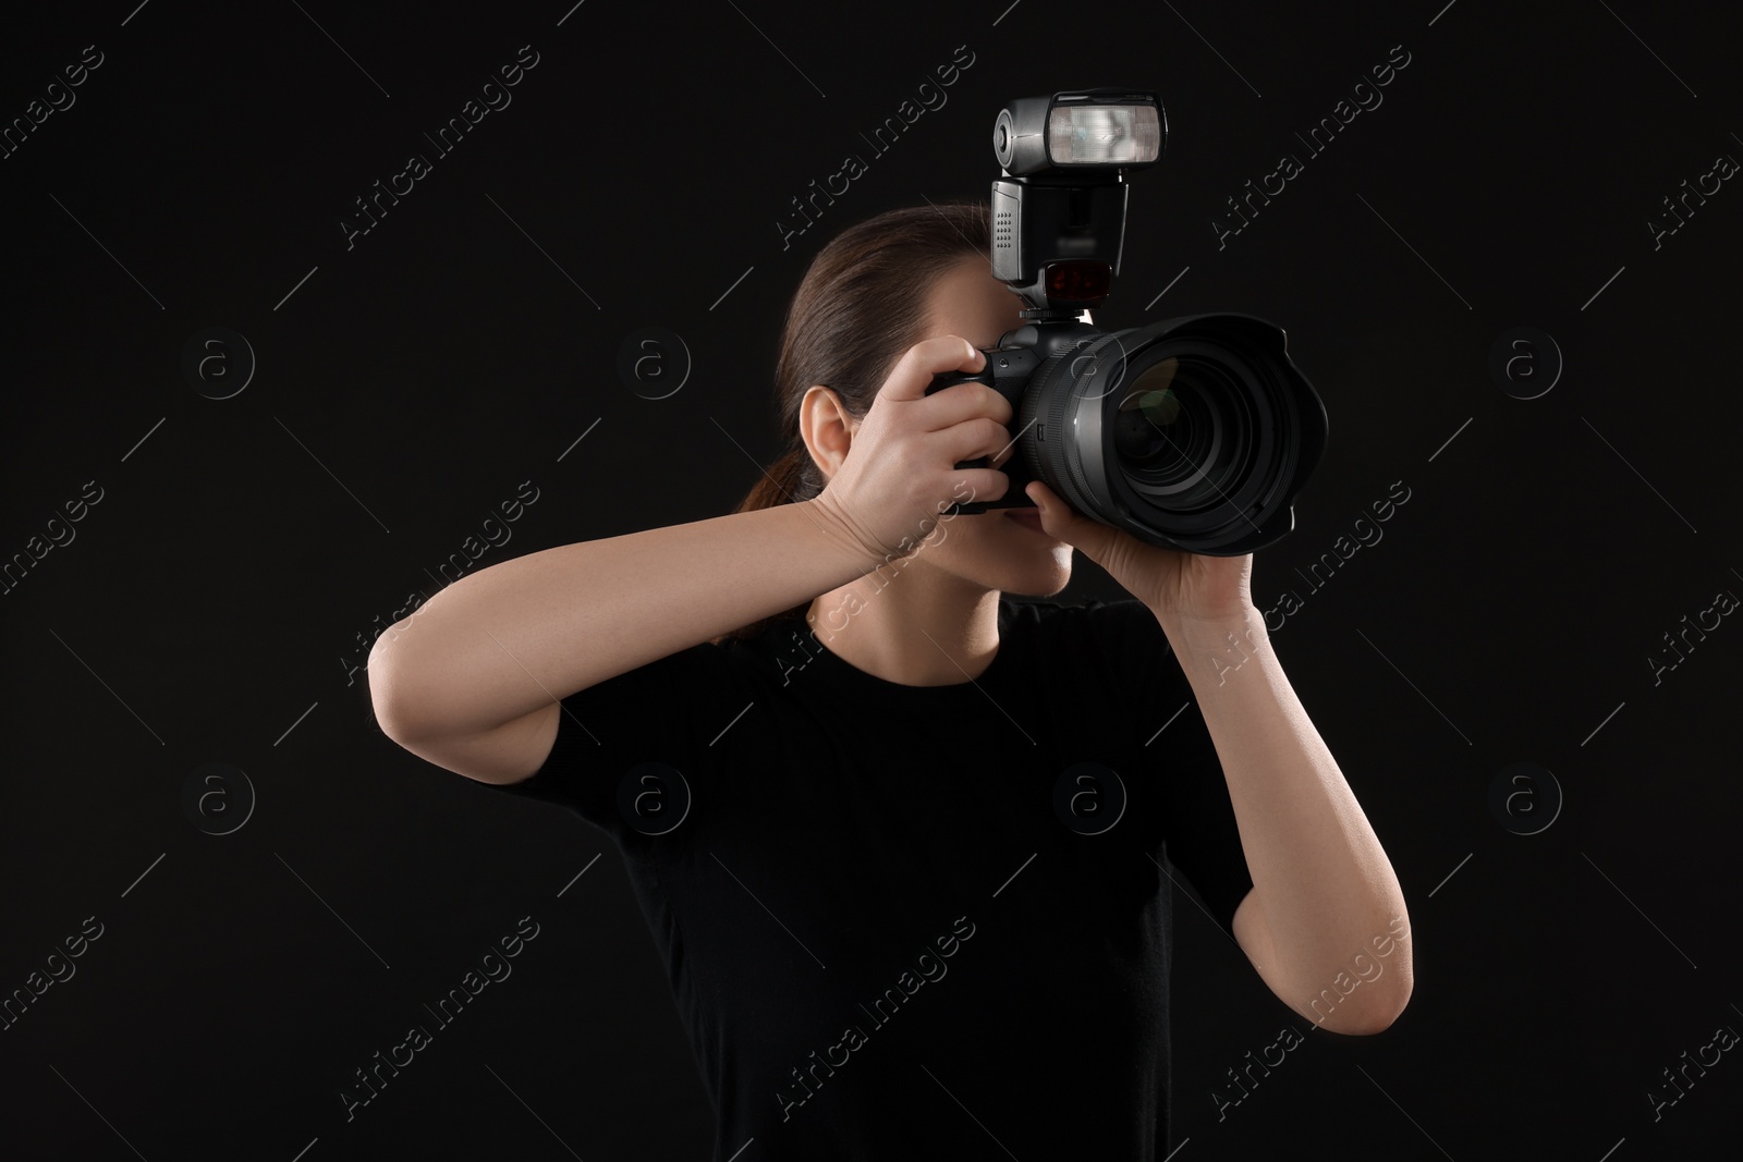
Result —
[[[370,662],[396,742],[612,834],[718,1162],[1163,1157],[1177,899],[1326,1028],[1410,993],[1398,880],[1251,557],[1041,483],[939,516],[1007,484],[1009,402],[926,395],[1020,324],[987,247],[973,202],[845,230],[788,312],[790,451],[737,512],[481,570]],[[1074,549],[1135,599],[1002,596],[1058,594]]]

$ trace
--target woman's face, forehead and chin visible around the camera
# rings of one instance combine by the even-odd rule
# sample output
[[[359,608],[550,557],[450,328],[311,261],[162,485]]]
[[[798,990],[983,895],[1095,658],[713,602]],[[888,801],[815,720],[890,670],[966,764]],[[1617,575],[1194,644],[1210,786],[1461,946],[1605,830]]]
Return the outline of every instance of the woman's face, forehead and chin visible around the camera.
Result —
[[[1020,312],[1023,300],[992,277],[988,263],[980,254],[966,256],[933,286],[931,324],[922,338],[960,334],[974,347],[994,347],[999,336],[1023,326]],[[1016,436],[1014,423],[1011,436]],[[994,458],[994,467],[1016,451]],[[1072,547],[1053,540],[1037,528],[1013,521],[1007,512],[1037,512],[1021,491],[1006,493],[1016,500],[1011,509],[988,509],[981,514],[939,517],[905,566],[936,568],[964,580],[1016,592],[1030,598],[1049,598],[1072,578]]]

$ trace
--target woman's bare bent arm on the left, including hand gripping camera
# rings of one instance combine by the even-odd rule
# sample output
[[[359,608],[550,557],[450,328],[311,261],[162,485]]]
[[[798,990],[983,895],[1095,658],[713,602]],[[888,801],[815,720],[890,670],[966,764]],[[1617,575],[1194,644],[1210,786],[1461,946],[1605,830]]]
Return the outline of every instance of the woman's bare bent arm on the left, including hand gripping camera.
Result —
[[[492,780],[530,774],[537,746],[556,735],[560,699],[913,552],[962,488],[997,497],[1009,484],[997,469],[955,465],[1009,446],[1011,402],[981,383],[926,394],[934,375],[981,366],[959,334],[903,352],[851,441],[830,437],[835,470],[810,500],[560,545],[462,577],[375,639],[370,697],[382,732],[425,758],[439,746]],[[800,416],[807,441],[823,411]]]

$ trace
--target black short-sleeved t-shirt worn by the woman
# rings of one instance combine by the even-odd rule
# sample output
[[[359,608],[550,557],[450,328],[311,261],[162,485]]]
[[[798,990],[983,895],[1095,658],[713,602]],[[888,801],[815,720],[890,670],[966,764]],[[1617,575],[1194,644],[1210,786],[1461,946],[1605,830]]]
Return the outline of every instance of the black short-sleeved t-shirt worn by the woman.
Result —
[[[563,699],[500,787],[622,852],[715,1162],[1171,1150],[1157,861],[1224,930],[1251,888],[1217,751],[1140,601],[1002,598],[999,639],[903,686],[783,618]]]

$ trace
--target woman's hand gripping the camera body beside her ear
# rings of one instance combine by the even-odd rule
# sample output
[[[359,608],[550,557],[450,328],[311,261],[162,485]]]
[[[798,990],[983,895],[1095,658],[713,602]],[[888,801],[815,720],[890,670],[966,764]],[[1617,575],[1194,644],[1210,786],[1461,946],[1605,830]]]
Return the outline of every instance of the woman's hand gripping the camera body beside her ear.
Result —
[[[997,500],[1009,477],[964,460],[1009,460],[1011,401],[985,383],[926,394],[945,371],[980,371],[987,355],[959,334],[915,343],[878,387],[835,476],[812,500],[868,559],[906,557],[952,503]]]

